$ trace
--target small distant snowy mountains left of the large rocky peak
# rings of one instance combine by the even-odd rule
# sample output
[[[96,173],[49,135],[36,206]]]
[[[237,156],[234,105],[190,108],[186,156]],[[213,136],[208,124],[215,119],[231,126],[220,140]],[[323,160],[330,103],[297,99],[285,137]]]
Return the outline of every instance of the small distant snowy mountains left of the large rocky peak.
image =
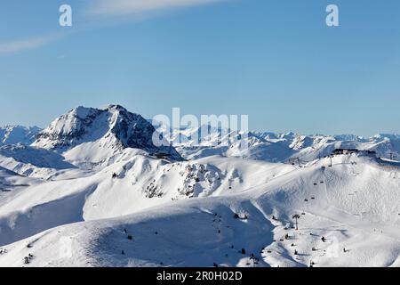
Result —
[[[0,126],[0,146],[5,144],[31,144],[41,129],[37,126]]]

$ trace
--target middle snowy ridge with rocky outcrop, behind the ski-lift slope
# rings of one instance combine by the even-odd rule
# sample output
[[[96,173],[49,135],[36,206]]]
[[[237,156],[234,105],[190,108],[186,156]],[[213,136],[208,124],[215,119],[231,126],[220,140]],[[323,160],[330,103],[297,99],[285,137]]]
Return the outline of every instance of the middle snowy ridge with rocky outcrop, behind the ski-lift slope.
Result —
[[[230,196],[292,169],[220,158],[172,164],[127,153],[92,175],[53,175],[0,204],[0,245],[61,224],[129,215],[173,200]]]

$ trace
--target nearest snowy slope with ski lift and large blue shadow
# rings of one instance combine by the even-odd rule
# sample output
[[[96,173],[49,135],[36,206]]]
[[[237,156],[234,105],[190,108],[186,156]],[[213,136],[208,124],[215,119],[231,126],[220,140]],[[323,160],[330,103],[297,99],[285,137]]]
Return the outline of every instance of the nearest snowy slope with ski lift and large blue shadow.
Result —
[[[31,254],[28,266],[399,266],[398,168],[356,156],[329,163],[218,197],[60,226],[4,246],[0,265]]]

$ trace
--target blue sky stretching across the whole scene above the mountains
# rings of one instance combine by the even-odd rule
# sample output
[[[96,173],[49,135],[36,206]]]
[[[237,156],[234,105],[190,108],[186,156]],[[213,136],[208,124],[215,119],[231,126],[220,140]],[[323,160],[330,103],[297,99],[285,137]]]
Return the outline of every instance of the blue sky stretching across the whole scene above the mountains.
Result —
[[[146,118],[248,114],[253,130],[400,133],[399,13],[397,0],[3,1],[0,125],[119,103]]]

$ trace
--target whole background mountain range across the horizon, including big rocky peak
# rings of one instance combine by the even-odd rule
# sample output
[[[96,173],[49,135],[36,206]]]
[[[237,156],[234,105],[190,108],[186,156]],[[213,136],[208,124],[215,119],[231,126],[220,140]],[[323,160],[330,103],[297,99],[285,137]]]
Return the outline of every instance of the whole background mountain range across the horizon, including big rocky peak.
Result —
[[[199,159],[220,155],[269,162],[284,162],[288,159],[311,161],[325,157],[337,148],[376,151],[378,156],[386,159],[400,158],[398,134],[377,134],[371,138],[355,134],[302,135],[271,132],[248,132],[244,135],[211,129],[211,134],[199,143],[192,137],[201,136],[201,128],[183,128],[172,130],[171,143],[176,147],[175,150],[173,147],[155,147],[152,143],[155,131],[148,120],[118,105],[110,105],[104,110],[78,107],[56,118],[44,130],[38,127],[2,127],[0,146],[21,143],[55,151],[68,161],[93,163],[106,160],[126,148],[165,153],[176,160],[182,157]],[[238,135],[247,143],[247,151],[240,148],[241,141],[234,140],[229,145],[220,143],[232,141]]]

